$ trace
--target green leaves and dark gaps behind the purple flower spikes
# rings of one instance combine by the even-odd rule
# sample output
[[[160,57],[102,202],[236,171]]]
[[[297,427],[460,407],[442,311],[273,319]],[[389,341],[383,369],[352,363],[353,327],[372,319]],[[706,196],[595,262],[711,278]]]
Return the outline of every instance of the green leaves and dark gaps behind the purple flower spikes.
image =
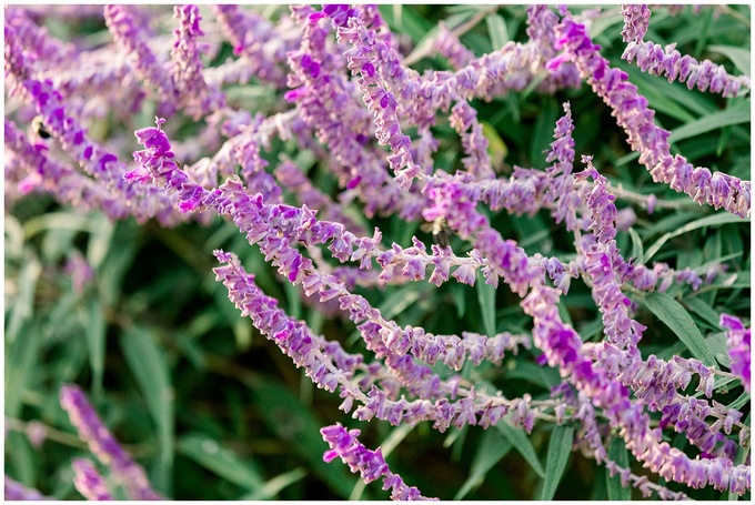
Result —
[[[274,19],[286,8],[251,9]],[[163,10],[170,14],[170,7],[155,8]],[[487,13],[481,17],[483,10]],[[108,36],[101,18],[71,22],[56,19],[52,12],[44,17],[44,24],[57,37]],[[526,38],[522,7],[382,6],[381,12],[394,31],[403,33],[407,48],[431,38],[441,20],[457,27],[475,17],[476,24],[461,40],[477,55],[507,40]],[[208,11],[207,16],[212,14]],[[715,22],[714,16],[718,17]],[[641,73],[620,58],[624,49],[621,28],[622,17],[614,6],[605,10],[591,34],[600,33],[595,41],[603,47],[603,55],[628,72],[657,111],[656,123],[672,131],[675,152],[684,153],[695,165],[749,179],[749,98],[725,100]],[[687,7],[675,16],[658,8],[647,39],[661,44],[675,41],[683,53],[723,63],[732,73],[749,74],[748,58],[727,57],[725,50],[716,49],[748,51],[747,6],[706,8],[699,13]],[[217,61],[230,53],[228,46]],[[425,58],[414,68],[445,65],[439,57]],[[282,103],[282,97],[271,87],[255,81],[229,90],[229,97],[236,105],[265,114]],[[473,103],[502,173],[514,164],[545,165],[543,151],[553,139],[555,120],[566,100],[572,103],[576,124],[577,154],[594,154],[595,165],[614,186],[621,184],[638,193],[655,193],[658,200],[678,202],[678,209],[657,209],[652,215],[636,209],[633,229],[617,236],[622,251],[644,255],[645,261],[653,253],[654,261],[676,269],[691,266],[702,274],[724,262],[729,273],[737,274],[734,282],[727,284],[724,281],[728,277],[719,276],[721,281],[696,292],[684,290],[683,296],[678,286],[667,292],[688,311],[714,349],[725,354],[717,314],[727,312],[747,320],[751,313],[748,226],[736,224],[738,220],[729,215],[706,220],[711,209],[697,206],[665,185],[653,184],[636,155],[631,154],[610,110],[586,85],[555,95],[525,90],[491,103]],[[100,128],[102,138],[107,138],[110,130],[148,127],[152,117],[147,102],[130,124],[91,128]],[[184,139],[201,130],[201,123],[184,120]],[[444,129],[447,134],[443,134]],[[439,125],[436,132],[446,139],[436,164],[459,166],[463,153],[457,137],[447,125]],[[129,149],[139,149],[135,140]],[[274,163],[280,153],[309,166],[311,179],[335,194],[336,183],[329,172],[306,153],[298,152],[292,142],[275,140],[264,156]],[[617,205],[621,210],[628,203],[617,200]],[[420,223],[397,218],[368,222],[359,203],[351,204],[350,215],[368,230],[380,226],[383,243],[407,245],[413,234],[432,243],[432,238],[419,229]],[[503,236],[516,240],[528,254],[541,252],[563,259],[572,250],[571,238],[545,211],[533,218],[501,213],[493,222]],[[239,316],[225,289],[214,281],[212,250],[222,248],[239,254],[248,271],[256,274],[260,286],[315,332],[364,351],[353,324],[324,317],[302,303],[294,289],[279,282],[256,249],[249,248],[238,230],[220,219],[210,226],[187,224],[172,230],[152,222],[139,226],[133,220],[111,223],[101,214],[61,206],[48,196],[33,194],[6,206],[4,241],[6,473],[48,495],[79,498],[70,461],[87,448],[74,436],[58,403],[60,386],[69,382],[87,388],[105,424],[147,467],[155,488],[177,499],[385,498],[379,486],[365,488],[344,465],[323,463],[326,446],[319,428],[334,422],[362,430],[365,445],[382,446],[392,469],[430,496],[537,498],[548,483],[545,468],[558,464],[566,469],[555,489],[557,499],[606,499],[632,493],[616,486],[603,467],[578,453],[562,451],[567,459],[552,462],[551,441],[561,440],[552,435],[553,424],[537,423],[531,437],[513,445],[511,437],[494,428],[466,426],[440,434],[427,423],[393,428],[385,422],[360,423],[343,415],[338,410],[340,398],[316,390],[249,320]],[[464,245],[452,239],[456,254],[465,251]],[[64,269],[66,261],[76,254],[85,257],[95,273],[94,281],[81,292]],[[444,334],[485,333],[491,327],[526,332],[531,323],[519,299],[509,290],[491,295],[487,287],[481,282],[475,287],[452,282],[440,289],[409,283],[358,292],[402,326],[411,323]],[[600,314],[581,281],[572,283],[560,309],[581,335],[600,339]],[[643,307],[637,319],[645,324],[657,321],[648,307]],[[647,325],[643,355],[688,355],[667,326],[657,322]],[[536,354],[524,351],[507,357],[501,367],[489,364],[465,367],[462,373],[490,381],[512,397],[524,393],[547,397],[550,386],[558,381],[557,372],[537,365]],[[748,405],[748,396],[742,397],[741,390],[722,398],[727,404]],[[749,424],[748,406],[745,408]],[[46,433],[40,445],[32,443],[36,430]],[[672,441],[672,445],[684,443],[683,437]],[[620,462],[626,457],[622,445],[612,451]],[[643,473],[640,465],[632,467]],[[668,487],[682,488],[674,484]],[[688,493],[701,499],[721,497],[713,489]]]

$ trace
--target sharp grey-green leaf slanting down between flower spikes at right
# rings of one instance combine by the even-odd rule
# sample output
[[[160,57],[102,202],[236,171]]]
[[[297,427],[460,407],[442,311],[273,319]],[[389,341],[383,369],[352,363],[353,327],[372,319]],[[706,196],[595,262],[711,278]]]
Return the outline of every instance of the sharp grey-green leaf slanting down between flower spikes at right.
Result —
[[[665,293],[648,293],[642,299],[645,306],[655,314],[687,346],[692,355],[707,366],[713,366],[716,358],[705,343],[703,334],[681,303]]]

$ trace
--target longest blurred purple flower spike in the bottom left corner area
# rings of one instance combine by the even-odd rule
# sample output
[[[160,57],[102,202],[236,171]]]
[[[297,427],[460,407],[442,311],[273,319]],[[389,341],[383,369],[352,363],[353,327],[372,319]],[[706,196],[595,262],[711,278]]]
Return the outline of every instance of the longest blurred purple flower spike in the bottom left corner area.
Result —
[[[79,386],[69,384],[60,390],[60,405],[90,451],[124,483],[132,499],[162,499],[150,486],[144,468],[118,444],[102,424]],[[80,489],[81,491],[81,489]]]

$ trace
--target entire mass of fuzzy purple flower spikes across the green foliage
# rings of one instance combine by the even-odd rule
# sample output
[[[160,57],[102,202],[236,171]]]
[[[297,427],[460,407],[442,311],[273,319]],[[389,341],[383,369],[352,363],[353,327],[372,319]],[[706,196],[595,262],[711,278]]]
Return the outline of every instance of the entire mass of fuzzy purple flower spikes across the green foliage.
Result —
[[[682,55],[674,44],[644,41],[651,22],[646,6],[615,8],[618,12],[625,21],[623,58],[642,71],[722,98],[749,91],[746,75]],[[563,115],[552,125],[546,164],[514,166],[506,174],[494,166],[491,138],[473,107],[475,99],[586,85],[605,102],[654,182],[687,195],[687,203],[709,208],[711,214],[728,213],[737,225],[746,224],[751,181],[721,166],[694,166],[672,149],[670,132],[657,125],[648,100],[591,39],[595,13],[531,6],[527,40],[482,55],[462,43],[462,29],[440,24],[431,46],[451,70],[423,73],[406,63],[405,41],[375,6],[299,6],[274,22],[236,6],[180,6],[169,18],[172,31],[162,34],[139,6],[108,6],[93,16],[110,33],[104,48],[58,40],[37,24],[38,12],[6,8],[6,97],[12,105],[7,110],[13,110],[4,121],[7,203],[38,192],[113,221],[154,219],[178,226],[225,220],[305,304],[353,323],[364,352],[286,314],[235,254],[207,251],[220,263],[215,279],[241,316],[318,387],[338,395],[344,415],[356,422],[426,422],[439,432],[521,427],[526,433],[538,424],[567,424],[575,430],[570,450],[644,496],[686,498],[657,477],[692,489],[738,496],[751,491],[749,458],[739,457],[749,451],[751,428],[743,421],[748,406],[717,401],[723,381],[751,392],[747,322],[719,315],[725,363],[694,335],[680,335],[692,357],[641,352],[647,331],[641,306],[656,315],[657,304],[682,307],[670,293],[721,282],[726,265],[675,270],[627,257],[618,238],[635,221],[633,205],[652,214],[677,203],[615,185],[593,153],[581,152],[577,161],[573,134],[580,124],[572,103],[563,103]],[[232,57],[219,63],[223,44],[232,48]],[[72,67],[81,72],[67,70]],[[250,81],[281,100],[253,115],[230,91]],[[154,127],[133,122],[144,103],[158,114]],[[129,118],[128,137],[94,131],[108,114]],[[32,121],[37,128],[27,128]],[[174,140],[187,121],[194,133]],[[459,145],[453,172],[436,166],[446,125]],[[264,154],[273,140],[304,155],[271,160]],[[141,149],[134,151],[137,144]],[[309,178],[308,159],[330,172],[336,196]],[[552,219],[573,245],[572,254],[528,252],[496,226],[500,211]],[[387,243],[385,229],[365,226],[369,219],[387,216],[432,223],[435,243],[427,246],[417,236]],[[80,256],[72,255],[67,269],[77,292],[94,282]],[[480,293],[482,287],[505,291],[519,300],[531,326],[516,334],[433,334],[400,325],[362,294],[411,282],[484,283]],[[581,335],[560,310],[577,282],[600,314],[597,339]],[[663,322],[672,326],[683,316],[676,312],[671,319]],[[492,365],[505,375],[502,364],[510,356],[532,356],[562,382],[545,395],[510,397],[465,373]],[[72,463],[82,496],[112,499],[115,483],[132,499],[161,498],[80,388],[64,386],[60,402],[101,463]],[[426,499],[391,472],[380,447],[366,448],[360,433],[341,423],[323,427],[324,461],[341,459],[365,483],[382,481],[393,499]],[[675,434],[685,450],[670,444]],[[643,475],[612,459],[607,447],[615,440],[646,469]],[[41,495],[6,476],[6,497]]]

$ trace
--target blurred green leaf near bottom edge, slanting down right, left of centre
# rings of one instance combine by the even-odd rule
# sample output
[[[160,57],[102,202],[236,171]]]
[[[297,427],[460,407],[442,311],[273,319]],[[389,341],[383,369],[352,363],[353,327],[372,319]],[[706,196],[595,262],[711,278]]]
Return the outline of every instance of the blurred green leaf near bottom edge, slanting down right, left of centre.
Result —
[[[192,459],[225,481],[243,488],[258,492],[264,485],[262,471],[249,456],[239,457],[233,451],[200,433],[190,433],[179,438],[179,454]]]

